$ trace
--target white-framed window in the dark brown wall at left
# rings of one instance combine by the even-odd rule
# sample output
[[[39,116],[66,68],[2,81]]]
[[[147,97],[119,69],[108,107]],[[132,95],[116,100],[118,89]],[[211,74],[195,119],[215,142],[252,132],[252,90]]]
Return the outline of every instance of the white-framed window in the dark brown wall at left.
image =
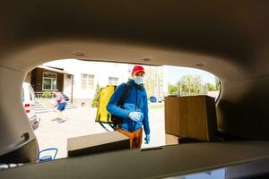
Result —
[[[43,72],[42,90],[56,90],[57,74],[54,72]]]

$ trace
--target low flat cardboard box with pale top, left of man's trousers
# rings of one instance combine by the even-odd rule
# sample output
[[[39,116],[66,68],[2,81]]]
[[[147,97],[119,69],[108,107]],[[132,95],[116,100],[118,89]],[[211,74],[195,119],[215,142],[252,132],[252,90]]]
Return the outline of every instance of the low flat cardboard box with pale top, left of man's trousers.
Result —
[[[105,132],[69,138],[68,157],[96,154],[101,152],[130,149],[130,140],[119,132]]]

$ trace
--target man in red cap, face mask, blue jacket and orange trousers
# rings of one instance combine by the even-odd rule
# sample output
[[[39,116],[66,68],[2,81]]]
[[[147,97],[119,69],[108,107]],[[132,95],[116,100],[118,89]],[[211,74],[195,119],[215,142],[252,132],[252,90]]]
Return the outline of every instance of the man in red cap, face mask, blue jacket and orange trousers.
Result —
[[[145,143],[150,142],[150,125],[148,115],[148,99],[143,87],[144,69],[141,65],[135,65],[132,71],[132,79],[117,86],[108,102],[108,112],[122,119],[122,124],[117,131],[130,139],[131,149],[140,149],[142,144],[143,129]],[[122,107],[118,107],[119,99],[127,87],[128,96]],[[143,128],[142,128],[143,126]]]

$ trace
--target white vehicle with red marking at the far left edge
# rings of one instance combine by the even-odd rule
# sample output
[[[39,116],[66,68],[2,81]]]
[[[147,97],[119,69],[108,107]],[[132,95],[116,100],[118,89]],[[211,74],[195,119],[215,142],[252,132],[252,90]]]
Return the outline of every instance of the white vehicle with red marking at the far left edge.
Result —
[[[22,104],[33,130],[37,129],[40,117],[35,114],[35,93],[28,82],[22,84]]]

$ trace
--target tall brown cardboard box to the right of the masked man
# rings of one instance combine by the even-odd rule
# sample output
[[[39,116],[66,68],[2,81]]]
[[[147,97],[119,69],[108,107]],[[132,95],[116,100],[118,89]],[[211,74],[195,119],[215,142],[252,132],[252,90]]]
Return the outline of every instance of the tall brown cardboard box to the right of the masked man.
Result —
[[[166,97],[165,132],[178,137],[214,141],[217,132],[214,98]]]

